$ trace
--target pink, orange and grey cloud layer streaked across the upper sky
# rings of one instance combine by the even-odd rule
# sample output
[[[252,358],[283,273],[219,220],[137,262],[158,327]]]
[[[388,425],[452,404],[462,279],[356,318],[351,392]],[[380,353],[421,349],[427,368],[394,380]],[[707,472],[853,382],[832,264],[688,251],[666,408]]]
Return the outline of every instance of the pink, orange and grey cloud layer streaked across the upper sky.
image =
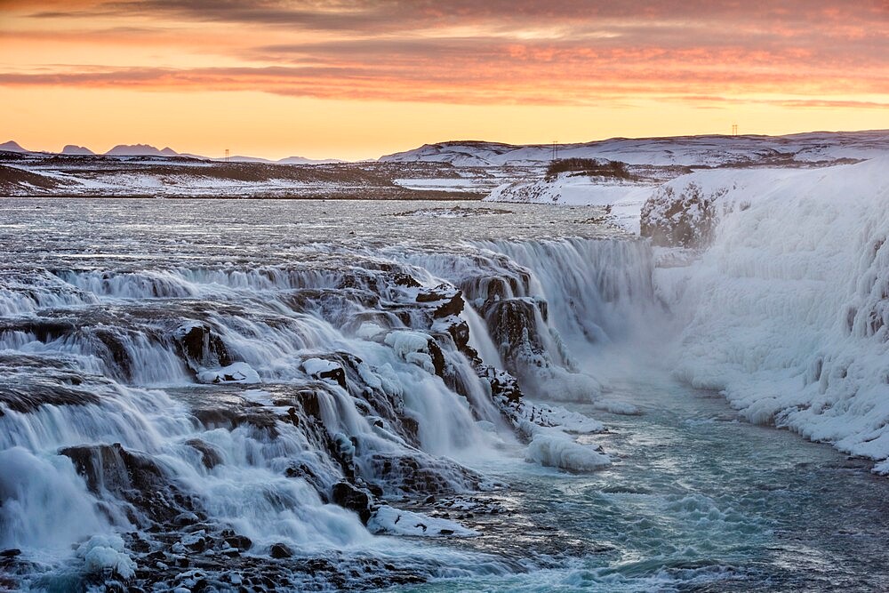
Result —
[[[193,40],[189,52],[211,56],[217,65],[207,68],[209,59],[175,68],[43,64],[0,70],[0,84],[572,105],[759,93],[802,96],[800,105],[809,106],[808,97],[889,95],[885,0],[43,5],[36,12],[29,3],[4,3],[0,19],[4,11],[19,16],[19,29],[12,28],[4,43],[93,44],[97,54],[138,45],[146,56],[141,65],[168,51],[179,36]],[[70,23],[78,25],[60,27]],[[128,29],[132,35],[125,34]]]

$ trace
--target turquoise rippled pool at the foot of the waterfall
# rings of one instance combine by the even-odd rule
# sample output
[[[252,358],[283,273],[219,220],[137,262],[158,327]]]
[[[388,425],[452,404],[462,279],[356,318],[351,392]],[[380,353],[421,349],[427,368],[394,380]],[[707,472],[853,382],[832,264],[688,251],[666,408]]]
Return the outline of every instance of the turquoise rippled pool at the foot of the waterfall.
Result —
[[[491,467],[502,517],[469,549],[548,569],[398,591],[879,591],[889,588],[889,485],[869,463],[743,421],[716,394],[651,377],[609,397],[639,415],[586,437],[615,459],[572,475]]]

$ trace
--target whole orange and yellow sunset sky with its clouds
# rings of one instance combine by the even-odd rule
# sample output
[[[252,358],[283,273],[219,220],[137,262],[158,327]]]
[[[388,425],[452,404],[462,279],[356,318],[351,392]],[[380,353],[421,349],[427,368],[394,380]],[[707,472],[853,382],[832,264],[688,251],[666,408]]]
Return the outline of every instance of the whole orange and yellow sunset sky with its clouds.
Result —
[[[889,1],[0,0],[0,142],[375,157],[889,128]]]

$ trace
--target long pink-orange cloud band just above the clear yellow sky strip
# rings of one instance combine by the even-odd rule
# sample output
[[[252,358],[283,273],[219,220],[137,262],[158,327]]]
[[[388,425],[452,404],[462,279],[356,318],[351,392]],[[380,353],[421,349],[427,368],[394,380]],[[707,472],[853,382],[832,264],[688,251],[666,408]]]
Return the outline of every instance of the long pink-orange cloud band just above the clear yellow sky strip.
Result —
[[[340,63],[336,66],[273,66],[263,68],[57,68],[39,73],[0,73],[5,86],[68,86],[106,89],[138,89],[145,91],[260,91],[285,96],[324,99],[366,99],[433,101],[455,104],[540,104],[601,105],[604,102],[627,102],[634,99],[657,98],[682,100],[699,104],[719,104],[732,100],[733,92],[757,91],[780,94],[793,88],[796,96],[821,97],[827,92],[854,94],[861,92],[856,79],[837,77],[829,82],[812,81],[805,73],[776,73],[769,76],[737,72],[726,75],[706,69],[698,71],[662,71],[653,68],[621,78],[621,68],[602,68],[602,76],[579,79],[573,71],[548,72],[533,68],[474,68],[467,79],[453,68],[418,69],[394,67],[388,62],[372,68],[368,64]],[[572,76],[574,75],[574,76]],[[543,81],[544,84],[541,84]],[[690,88],[699,94],[688,95]],[[868,92],[889,93],[889,84]],[[745,102],[756,100],[743,99]],[[812,107],[825,105],[881,108],[874,101],[850,102],[829,99],[781,99],[784,105]]]

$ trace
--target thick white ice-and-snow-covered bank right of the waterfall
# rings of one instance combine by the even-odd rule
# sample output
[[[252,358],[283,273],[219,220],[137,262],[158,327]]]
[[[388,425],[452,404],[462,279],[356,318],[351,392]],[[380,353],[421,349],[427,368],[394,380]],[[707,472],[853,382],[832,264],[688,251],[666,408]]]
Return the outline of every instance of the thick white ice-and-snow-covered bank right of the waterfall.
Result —
[[[683,326],[678,378],[749,421],[889,471],[889,157],[815,170],[714,171],[671,182],[717,195],[712,244],[659,268]]]

